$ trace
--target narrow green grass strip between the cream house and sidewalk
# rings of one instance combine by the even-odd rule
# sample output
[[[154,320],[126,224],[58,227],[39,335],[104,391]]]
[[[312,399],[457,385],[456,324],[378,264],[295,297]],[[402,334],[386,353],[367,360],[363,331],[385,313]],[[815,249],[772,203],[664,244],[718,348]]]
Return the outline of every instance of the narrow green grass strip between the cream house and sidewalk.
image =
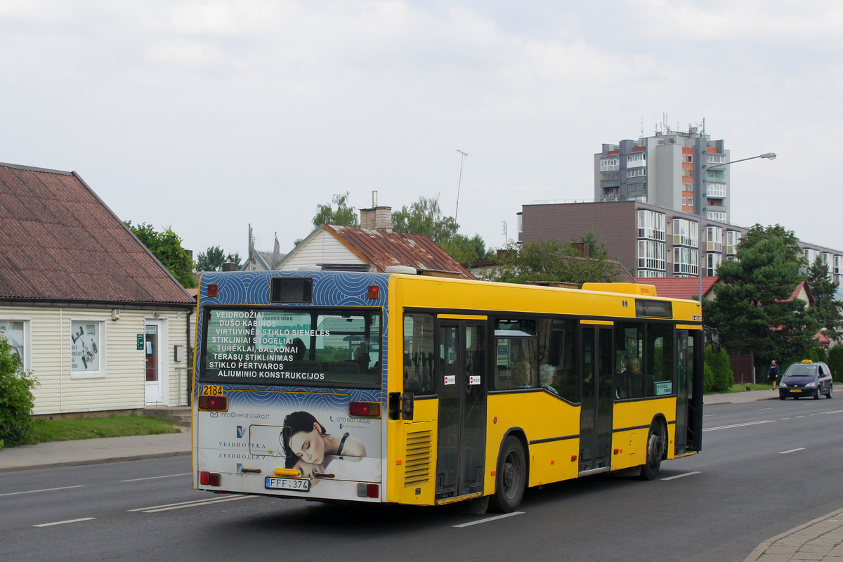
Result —
[[[166,420],[142,415],[112,415],[107,418],[79,418],[78,420],[35,420],[30,431],[29,442],[158,435],[179,431]]]

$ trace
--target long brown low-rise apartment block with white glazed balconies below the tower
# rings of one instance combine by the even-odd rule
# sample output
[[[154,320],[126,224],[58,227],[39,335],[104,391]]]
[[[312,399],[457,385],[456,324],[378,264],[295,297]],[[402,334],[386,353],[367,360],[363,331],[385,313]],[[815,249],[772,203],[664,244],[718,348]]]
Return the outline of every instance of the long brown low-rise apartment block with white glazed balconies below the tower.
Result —
[[[524,205],[519,223],[524,242],[570,242],[593,231],[609,257],[634,277],[699,276],[700,265],[703,276],[714,276],[722,261],[736,259],[738,242],[749,230],[636,200]],[[806,260],[819,256],[835,281],[843,281],[843,251],[799,245]]]

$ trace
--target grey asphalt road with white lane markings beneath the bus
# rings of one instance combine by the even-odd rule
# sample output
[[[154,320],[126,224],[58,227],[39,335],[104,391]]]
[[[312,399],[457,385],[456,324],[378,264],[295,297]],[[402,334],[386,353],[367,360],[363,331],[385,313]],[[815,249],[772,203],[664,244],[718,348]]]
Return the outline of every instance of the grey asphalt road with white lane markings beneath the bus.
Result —
[[[191,490],[190,459],[0,474],[0,557],[23,560],[743,560],[843,507],[843,401],[706,406],[704,451],[659,479],[528,490],[519,513],[332,506]]]

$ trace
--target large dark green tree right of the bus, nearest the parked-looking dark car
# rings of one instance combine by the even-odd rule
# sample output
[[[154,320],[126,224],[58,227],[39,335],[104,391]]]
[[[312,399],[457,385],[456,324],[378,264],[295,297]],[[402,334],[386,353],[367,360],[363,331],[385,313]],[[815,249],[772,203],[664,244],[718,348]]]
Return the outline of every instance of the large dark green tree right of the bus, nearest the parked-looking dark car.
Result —
[[[728,349],[753,349],[759,366],[801,357],[814,345],[819,325],[806,302],[791,300],[804,279],[801,250],[774,233],[741,244],[737,257],[717,267],[722,284],[714,286],[715,299],[703,302],[706,324],[719,330]]]

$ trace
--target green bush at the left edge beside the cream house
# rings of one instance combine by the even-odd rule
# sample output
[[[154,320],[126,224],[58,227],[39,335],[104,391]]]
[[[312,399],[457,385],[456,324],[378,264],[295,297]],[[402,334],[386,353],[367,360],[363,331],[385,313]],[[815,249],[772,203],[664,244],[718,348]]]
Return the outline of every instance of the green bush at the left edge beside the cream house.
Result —
[[[37,384],[8,341],[0,338],[0,448],[27,442],[35,404],[32,389]]]

